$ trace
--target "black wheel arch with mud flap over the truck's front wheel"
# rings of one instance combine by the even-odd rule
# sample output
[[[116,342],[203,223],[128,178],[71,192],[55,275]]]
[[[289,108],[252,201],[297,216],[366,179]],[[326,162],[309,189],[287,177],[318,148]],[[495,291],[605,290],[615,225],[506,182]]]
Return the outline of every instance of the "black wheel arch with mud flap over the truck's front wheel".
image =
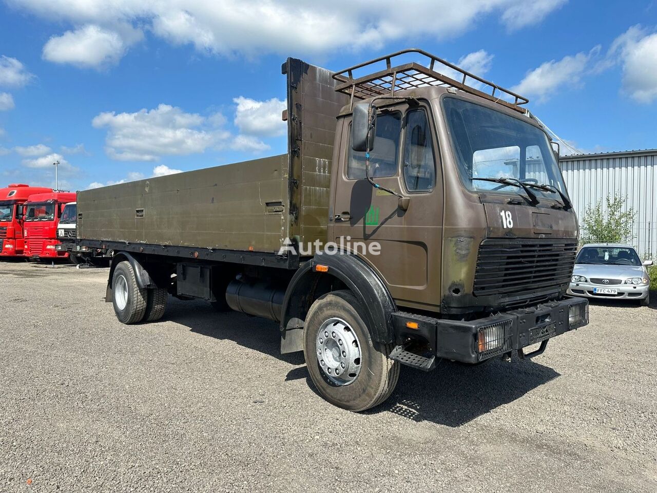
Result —
[[[317,266],[327,270],[318,271]],[[394,341],[392,312],[396,311],[396,304],[380,277],[355,255],[318,253],[296,271],[286,290],[281,352],[302,350],[298,342],[307,312],[319,296],[332,291],[332,283],[327,281],[333,280],[338,281],[340,288],[349,289],[363,305],[372,339],[384,344]]]

